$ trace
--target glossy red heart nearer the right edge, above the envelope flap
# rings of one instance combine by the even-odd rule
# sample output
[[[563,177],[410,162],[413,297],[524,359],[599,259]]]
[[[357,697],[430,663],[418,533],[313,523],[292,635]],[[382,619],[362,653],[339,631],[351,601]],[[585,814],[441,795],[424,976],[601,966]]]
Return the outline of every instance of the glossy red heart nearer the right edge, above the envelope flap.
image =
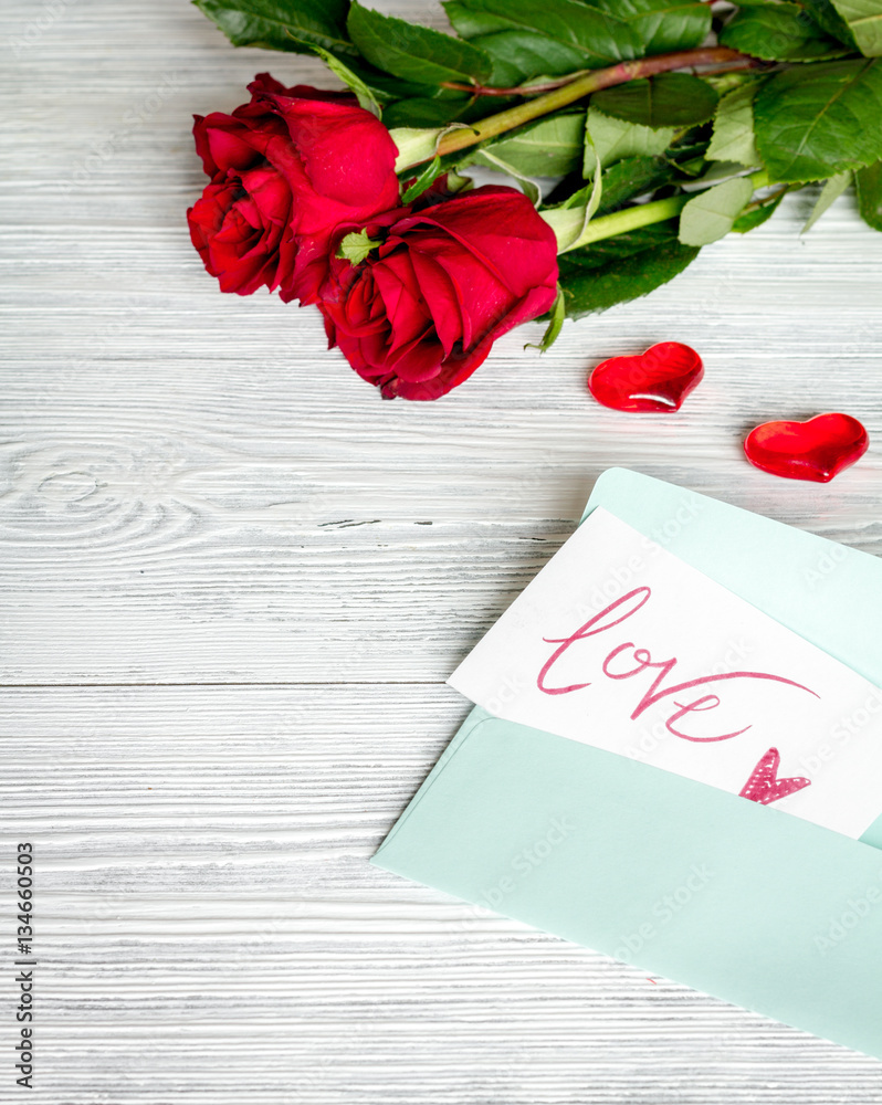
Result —
[[[744,443],[747,460],[788,480],[828,483],[859,461],[870,440],[849,414],[818,414],[808,422],[764,422]]]

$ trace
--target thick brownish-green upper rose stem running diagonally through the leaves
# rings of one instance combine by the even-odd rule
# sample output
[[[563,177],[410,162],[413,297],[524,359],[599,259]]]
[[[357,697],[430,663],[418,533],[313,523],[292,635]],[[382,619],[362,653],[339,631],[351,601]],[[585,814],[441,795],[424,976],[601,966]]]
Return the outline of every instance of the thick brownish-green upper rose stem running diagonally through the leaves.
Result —
[[[612,85],[624,84],[627,81],[633,81],[638,77],[652,76],[655,73],[668,73],[671,70],[690,69],[695,65],[714,65],[717,62],[727,63],[727,69],[746,69],[762,64],[754,57],[748,57],[746,54],[726,46],[682,50],[675,54],[660,54],[658,57],[619,62],[618,65],[611,65],[609,69],[586,73],[537,99],[531,99],[526,104],[518,104],[517,107],[510,107],[505,112],[491,115],[480,123],[469,124],[466,127],[452,130],[441,138],[437,152],[443,157],[445,154],[453,154],[469,146],[475,146],[477,143],[494,138],[513,127],[529,123],[531,119],[537,119],[550,112],[556,112],[558,107],[574,104],[577,99],[581,99],[592,92],[598,92],[600,88],[609,88]],[[422,160],[428,161],[431,158],[427,157]]]

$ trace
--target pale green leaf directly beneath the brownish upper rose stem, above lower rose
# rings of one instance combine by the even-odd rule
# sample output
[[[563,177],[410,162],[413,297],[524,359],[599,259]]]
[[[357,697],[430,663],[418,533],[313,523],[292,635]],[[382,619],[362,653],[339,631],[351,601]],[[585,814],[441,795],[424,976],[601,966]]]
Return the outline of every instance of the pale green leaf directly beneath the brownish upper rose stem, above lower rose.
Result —
[[[525,177],[565,177],[581,167],[585,112],[552,115],[481,146],[461,166],[500,161]]]

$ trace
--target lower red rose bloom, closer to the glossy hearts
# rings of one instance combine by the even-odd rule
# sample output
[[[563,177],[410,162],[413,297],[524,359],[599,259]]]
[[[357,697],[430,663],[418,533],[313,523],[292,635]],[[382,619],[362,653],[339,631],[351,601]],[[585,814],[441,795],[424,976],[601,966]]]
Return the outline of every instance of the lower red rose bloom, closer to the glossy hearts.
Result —
[[[366,232],[382,244],[358,265],[335,256],[319,306],[330,345],[385,399],[438,399],[554,303],[557,241],[514,188],[402,208]]]

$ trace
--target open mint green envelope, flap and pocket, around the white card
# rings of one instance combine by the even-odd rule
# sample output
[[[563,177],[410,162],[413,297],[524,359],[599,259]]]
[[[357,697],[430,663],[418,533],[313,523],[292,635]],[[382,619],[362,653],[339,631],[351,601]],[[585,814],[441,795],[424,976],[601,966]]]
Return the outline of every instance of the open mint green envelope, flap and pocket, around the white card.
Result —
[[[596,506],[882,684],[882,560],[621,469]],[[880,849],[474,709],[372,862],[882,1057]]]

